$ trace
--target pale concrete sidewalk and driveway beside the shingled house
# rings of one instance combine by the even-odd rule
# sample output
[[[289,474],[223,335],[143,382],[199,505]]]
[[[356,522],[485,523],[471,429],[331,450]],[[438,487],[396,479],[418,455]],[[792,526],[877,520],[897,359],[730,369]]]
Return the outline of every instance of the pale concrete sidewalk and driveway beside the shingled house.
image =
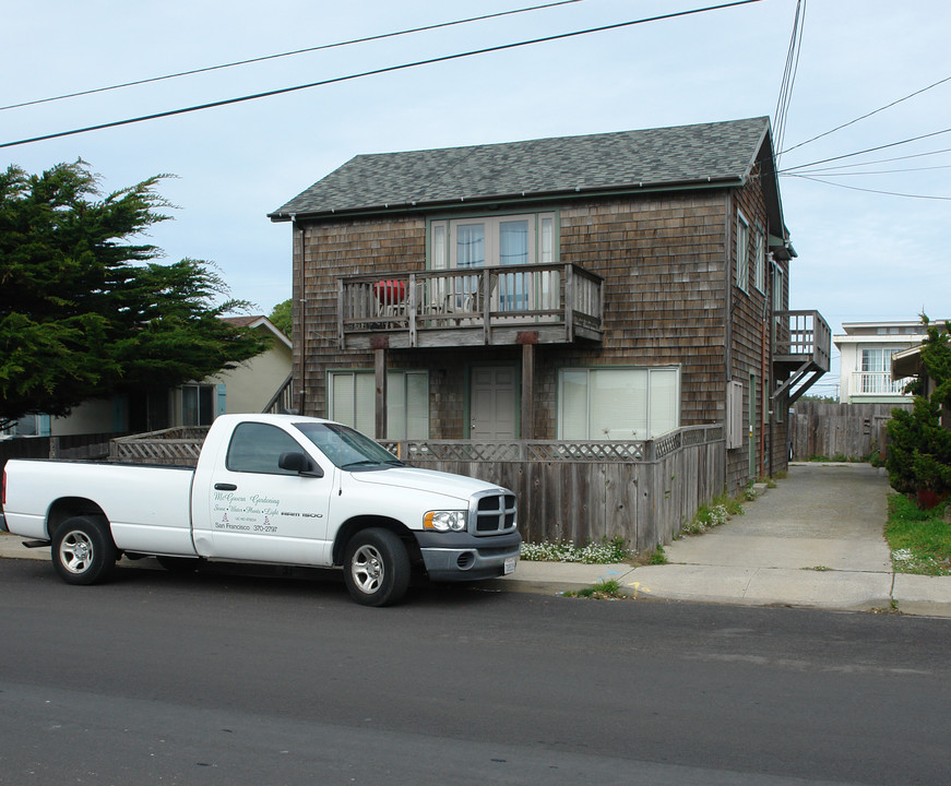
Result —
[[[868,464],[793,464],[744,515],[666,546],[666,565],[521,561],[511,576],[480,586],[556,594],[615,580],[639,599],[951,618],[951,576],[892,573],[882,535],[888,491]],[[49,559],[49,549],[21,540],[0,534],[0,559]]]

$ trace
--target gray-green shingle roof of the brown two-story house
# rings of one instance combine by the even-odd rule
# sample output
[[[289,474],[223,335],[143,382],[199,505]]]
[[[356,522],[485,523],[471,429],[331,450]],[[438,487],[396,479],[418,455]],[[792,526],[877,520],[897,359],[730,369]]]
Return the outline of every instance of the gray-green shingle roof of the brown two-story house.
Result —
[[[322,215],[576,191],[740,183],[766,117],[506,144],[358,155],[270,214]],[[765,155],[771,155],[766,150]]]

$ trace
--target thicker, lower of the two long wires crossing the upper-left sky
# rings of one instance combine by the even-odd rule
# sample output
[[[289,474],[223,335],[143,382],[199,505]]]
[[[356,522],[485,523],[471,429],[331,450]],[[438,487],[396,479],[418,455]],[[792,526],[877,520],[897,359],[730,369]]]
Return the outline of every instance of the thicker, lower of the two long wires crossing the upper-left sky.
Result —
[[[0,148],[2,147],[14,147],[16,145],[29,144],[32,142],[41,142],[45,140],[51,139],[60,139],[62,136],[72,136],[75,134],[86,133],[88,131],[100,131],[107,128],[117,128],[119,126],[130,126],[132,123],[144,122],[146,120],[157,120],[159,118],[173,117],[176,115],[185,115],[187,112],[200,111],[202,109],[213,109],[215,107],[228,106],[230,104],[239,104],[242,102],[255,100],[258,98],[268,98],[271,96],[283,95],[285,93],[294,93],[295,91],[308,90],[310,87],[320,87],[323,85],[334,84],[338,82],[348,82],[352,80],[360,79],[364,76],[373,76],[382,73],[392,73],[394,71],[403,71],[411,68],[416,68],[419,66],[431,66],[432,63],[438,62],[448,62],[450,60],[460,60],[462,58],[474,57],[477,55],[487,55],[490,52],[503,51],[506,49],[515,49],[518,47],[531,46],[533,44],[544,44],[552,40],[563,40],[566,38],[574,38],[582,35],[589,35],[591,33],[603,33],[605,31],[611,29],[620,29],[623,27],[630,27],[632,25],[645,24],[647,22],[659,22],[663,20],[677,19],[680,16],[689,16],[699,13],[705,13],[708,11],[720,11],[722,9],[727,8],[736,8],[738,5],[749,5],[750,3],[760,2],[761,0],[736,0],[735,2],[722,3],[720,5],[709,5],[706,8],[692,9],[690,11],[677,11],[667,14],[661,14],[657,16],[647,16],[640,20],[632,20],[630,22],[618,22],[616,24],[603,25],[601,27],[591,27],[582,31],[574,31],[572,33],[561,33],[558,35],[545,36],[543,38],[532,38],[530,40],[516,41],[514,44],[501,44],[494,47],[486,47],[484,49],[473,49],[466,52],[459,52],[456,55],[444,55],[442,57],[429,58],[427,60],[417,60],[415,62],[403,63],[401,66],[388,66],[385,68],[373,69],[371,71],[364,71],[361,73],[349,74],[347,76],[335,76],[333,79],[321,80],[319,82],[309,82],[302,85],[296,85],[294,87],[280,87],[273,91],[266,91],[264,93],[254,93],[251,95],[240,96],[238,98],[225,98],[222,100],[210,102],[207,104],[199,104],[195,106],[185,107],[181,109],[169,109],[168,111],[154,112],[152,115],[142,115],[135,118],[128,118],[126,120],[114,120],[111,122],[98,123],[96,126],[87,126],[85,128],[73,129],[71,131],[58,131],[56,133],[44,134],[41,136],[32,136],[29,139],[17,140],[15,142],[2,142],[0,143]],[[819,162],[822,163],[822,162]]]

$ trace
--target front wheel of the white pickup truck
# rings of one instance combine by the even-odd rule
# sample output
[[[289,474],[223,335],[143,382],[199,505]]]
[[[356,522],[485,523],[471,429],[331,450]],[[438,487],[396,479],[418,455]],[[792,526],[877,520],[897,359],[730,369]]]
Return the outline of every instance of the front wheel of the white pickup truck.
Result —
[[[389,529],[362,529],[344,552],[344,582],[350,596],[364,606],[399,603],[409,586],[409,557],[400,538]]]

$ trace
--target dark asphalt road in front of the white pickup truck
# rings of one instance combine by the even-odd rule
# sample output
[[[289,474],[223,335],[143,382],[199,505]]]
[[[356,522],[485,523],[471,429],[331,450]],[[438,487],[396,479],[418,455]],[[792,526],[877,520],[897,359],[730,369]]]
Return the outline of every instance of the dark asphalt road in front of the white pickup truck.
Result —
[[[944,784],[951,620],[0,560],[0,784]]]

